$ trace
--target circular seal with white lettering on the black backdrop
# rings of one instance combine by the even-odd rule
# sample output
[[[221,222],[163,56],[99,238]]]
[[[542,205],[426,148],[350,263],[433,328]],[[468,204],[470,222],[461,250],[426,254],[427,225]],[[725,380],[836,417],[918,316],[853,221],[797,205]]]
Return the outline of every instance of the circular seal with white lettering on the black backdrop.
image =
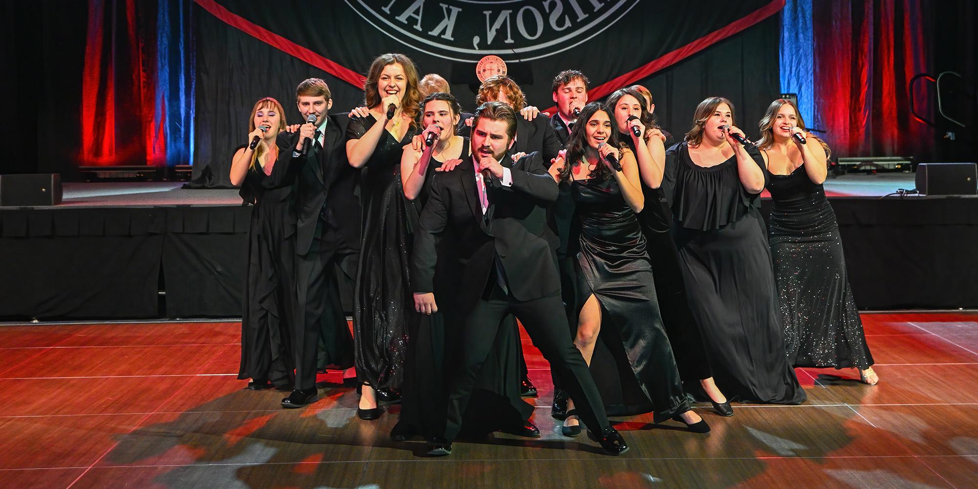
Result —
[[[466,63],[497,55],[517,63],[586,42],[641,0],[344,1],[379,32],[422,53]]]

